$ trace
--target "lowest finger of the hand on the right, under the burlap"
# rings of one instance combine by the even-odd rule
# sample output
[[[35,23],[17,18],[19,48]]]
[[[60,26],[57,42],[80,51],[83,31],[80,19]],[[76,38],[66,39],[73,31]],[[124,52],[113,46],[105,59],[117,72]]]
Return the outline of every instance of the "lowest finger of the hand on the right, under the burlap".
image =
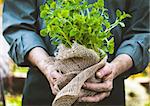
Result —
[[[109,95],[110,95],[110,92],[103,92],[94,96],[81,97],[78,99],[78,101],[79,102],[99,102],[103,100],[104,98],[108,97]]]

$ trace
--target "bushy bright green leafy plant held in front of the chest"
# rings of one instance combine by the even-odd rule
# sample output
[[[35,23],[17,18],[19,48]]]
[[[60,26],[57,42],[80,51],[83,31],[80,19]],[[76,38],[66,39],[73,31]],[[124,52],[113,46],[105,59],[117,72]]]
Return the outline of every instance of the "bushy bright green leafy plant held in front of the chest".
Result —
[[[99,55],[114,52],[111,30],[117,25],[125,27],[122,20],[130,17],[117,10],[116,20],[111,24],[104,0],[93,4],[88,4],[86,0],[47,0],[40,10],[40,17],[46,24],[40,32],[42,36],[49,35],[53,44],[63,43],[68,47],[76,41]]]

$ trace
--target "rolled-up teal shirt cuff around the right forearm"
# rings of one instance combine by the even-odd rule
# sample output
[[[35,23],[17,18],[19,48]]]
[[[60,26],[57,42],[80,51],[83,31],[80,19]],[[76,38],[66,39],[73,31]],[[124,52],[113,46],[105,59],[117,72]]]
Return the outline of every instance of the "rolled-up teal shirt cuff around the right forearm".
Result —
[[[121,44],[121,46],[117,50],[116,56],[120,54],[127,54],[133,60],[133,67],[125,73],[123,73],[124,78],[128,78],[130,75],[142,72],[144,70],[144,68],[142,68],[142,48],[142,43],[140,43],[140,41],[126,40]]]

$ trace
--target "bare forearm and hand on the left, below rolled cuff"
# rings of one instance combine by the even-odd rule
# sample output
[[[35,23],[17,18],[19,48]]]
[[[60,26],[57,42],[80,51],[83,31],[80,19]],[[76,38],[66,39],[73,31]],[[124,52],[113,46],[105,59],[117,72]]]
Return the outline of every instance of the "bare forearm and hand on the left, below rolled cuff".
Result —
[[[39,68],[39,70],[45,75],[50,83],[53,94],[57,94],[58,89],[55,87],[55,82],[62,77],[62,74],[58,73],[54,68],[55,58],[50,57],[45,49],[41,47],[35,47],[26,56],[27,60],[32,65]]]

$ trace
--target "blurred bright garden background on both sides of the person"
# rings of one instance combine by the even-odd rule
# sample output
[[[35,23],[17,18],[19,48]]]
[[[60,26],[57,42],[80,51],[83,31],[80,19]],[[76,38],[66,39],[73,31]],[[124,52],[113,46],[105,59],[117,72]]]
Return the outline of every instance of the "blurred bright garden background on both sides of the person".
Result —
[[[2,36],[0,0],[0,106],[21,106],[27,67],[18,67],[8,56],[9,45]],[[150,106],[150,64],[143,73],[125,80],[126,106]]]

